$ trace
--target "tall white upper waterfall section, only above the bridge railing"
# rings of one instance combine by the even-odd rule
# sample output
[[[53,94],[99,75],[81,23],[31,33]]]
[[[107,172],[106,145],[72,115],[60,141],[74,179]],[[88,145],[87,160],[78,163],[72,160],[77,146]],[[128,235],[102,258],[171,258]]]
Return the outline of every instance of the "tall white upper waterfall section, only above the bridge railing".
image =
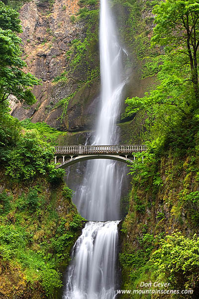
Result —
[[[125,81],[122,78],[122,48],[107,0],[100,6],[100,75],[101,107],[95,144],[110,145],[118,141],[115,122],[119,115]]]

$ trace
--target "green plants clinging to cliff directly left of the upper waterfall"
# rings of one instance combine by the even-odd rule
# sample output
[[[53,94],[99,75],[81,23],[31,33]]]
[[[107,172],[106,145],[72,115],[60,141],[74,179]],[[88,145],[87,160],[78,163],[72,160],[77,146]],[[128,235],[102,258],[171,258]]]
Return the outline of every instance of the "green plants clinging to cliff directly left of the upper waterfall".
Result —
[[[67,113],[69,101],[83,87],[84,84],[92,83],[99,77],[99,55],[98,55],[98,23],[99,23],[99,2],[80,1],[81,8],[75,15],[70,17],[71,22],[84,22],[85,33],[80,39],[74,39],[66,53],[68,62],[67,69],[53,80],[54,83],[66,83],[68,78],[74,78],[78,82],[76,91],[68,97],[61,99],[54,108],[63,107],[60,116],[61,122]],[[81,79],[80,79],[81,78]]]

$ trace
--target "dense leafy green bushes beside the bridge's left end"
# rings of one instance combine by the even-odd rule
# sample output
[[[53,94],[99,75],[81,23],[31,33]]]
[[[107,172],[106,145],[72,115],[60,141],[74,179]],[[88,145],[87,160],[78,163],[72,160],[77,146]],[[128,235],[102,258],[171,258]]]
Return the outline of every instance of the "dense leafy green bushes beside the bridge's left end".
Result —
[[[62,133],[45,123],[33,124],[30,120],[19,123],[6,111],[0,117],[0,122],[7,125],[0,130],[0,159],[5,174],[15,180],[47,175],[50,182],[59,184],[65,171],[55,169],[49,161],[54,159],[53,146]],[[23,134],[22,128],[25,128]]]

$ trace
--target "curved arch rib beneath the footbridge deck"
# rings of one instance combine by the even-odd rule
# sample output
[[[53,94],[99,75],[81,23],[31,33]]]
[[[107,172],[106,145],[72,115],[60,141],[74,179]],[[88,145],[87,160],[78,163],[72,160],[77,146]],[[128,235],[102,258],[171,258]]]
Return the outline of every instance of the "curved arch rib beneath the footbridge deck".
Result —
[[[129,163],[132,161],[131,159],[125,156],[113,155],[113,154],[79,155],[76,157],[72,157],[71,159],[64,160],[61,164],[56,165],[56,168],[66,168],[75,163],[86,161],[86,160],[93,160],[93,159],[110,159],[110,160],[120,161],[124,163]]]

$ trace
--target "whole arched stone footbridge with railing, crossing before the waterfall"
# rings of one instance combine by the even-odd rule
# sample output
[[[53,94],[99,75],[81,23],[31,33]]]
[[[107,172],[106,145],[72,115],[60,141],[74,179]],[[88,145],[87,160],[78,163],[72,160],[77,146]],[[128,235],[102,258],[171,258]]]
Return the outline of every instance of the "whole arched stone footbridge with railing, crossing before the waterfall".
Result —
[[[146,151],[145,145],[115,146],[66,146],[55,147],[56,168],[66,168],[80,161],[91,159],[111,159],[128,163],[135,159],[133,153]]]

